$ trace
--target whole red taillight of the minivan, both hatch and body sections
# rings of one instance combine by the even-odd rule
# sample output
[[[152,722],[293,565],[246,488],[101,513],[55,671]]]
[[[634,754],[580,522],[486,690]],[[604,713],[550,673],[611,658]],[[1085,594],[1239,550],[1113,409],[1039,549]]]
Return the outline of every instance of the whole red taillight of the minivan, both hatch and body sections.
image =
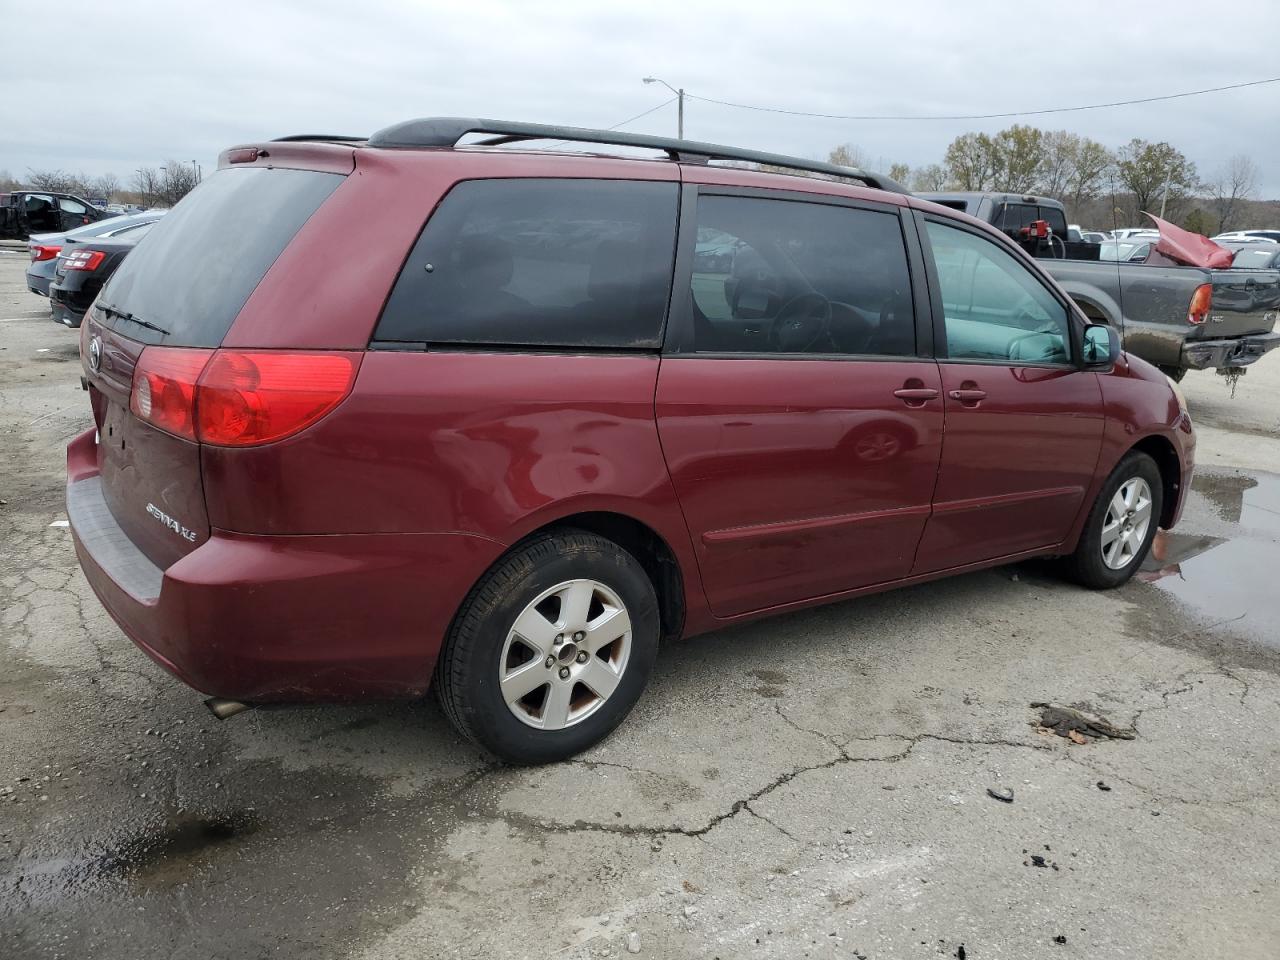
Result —
[[[360,353],[147,347],[129,408],[216,447],[270,443],[310,426],[351,392]]]

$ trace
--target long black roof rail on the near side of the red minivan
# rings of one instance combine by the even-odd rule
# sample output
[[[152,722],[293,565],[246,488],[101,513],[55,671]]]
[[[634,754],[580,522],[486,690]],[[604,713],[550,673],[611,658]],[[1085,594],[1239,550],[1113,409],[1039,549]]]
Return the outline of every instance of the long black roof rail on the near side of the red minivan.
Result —
[[[708,160],[739,160],[768,166],[782,166],[788,170],[820,173],[828,177],[842,177],[861,180],[868,187],[906,193],[908,189],[888,177],[869,173],[855,166],[841,166],[822,160],[804,160],[783,154],[767,154],[760,150],[741,150],[718,143],[701,143],[692,140],[671,137],[649,137],[640,133],[621,133],[618,131],[595,131],[585,127],[557,127],[547,123],[516,123],[512,120],[484,120],[475,116],[424,116],[406,120],[378,131],[367,141],[371,147],[452,147],[468,133],[492,134],[480,141],[485,146],[515,143],[526,140],[563,140],[576,143],[605,143],[620,147],[646,147],[662,150],[672,160],[686,163],[707,163]],[[287,140],[293,140],[288,137]]]

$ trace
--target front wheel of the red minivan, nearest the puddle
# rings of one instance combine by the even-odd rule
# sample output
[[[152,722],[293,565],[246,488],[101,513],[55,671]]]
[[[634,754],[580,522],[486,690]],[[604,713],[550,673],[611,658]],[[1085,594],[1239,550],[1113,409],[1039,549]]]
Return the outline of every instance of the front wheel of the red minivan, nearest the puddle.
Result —
[[[1066,576],[1093,590],[1110,590],[1142,566],[1156,539],[1164,484],[1156,461],[1139,451],[1124,456],[1098,492]]]

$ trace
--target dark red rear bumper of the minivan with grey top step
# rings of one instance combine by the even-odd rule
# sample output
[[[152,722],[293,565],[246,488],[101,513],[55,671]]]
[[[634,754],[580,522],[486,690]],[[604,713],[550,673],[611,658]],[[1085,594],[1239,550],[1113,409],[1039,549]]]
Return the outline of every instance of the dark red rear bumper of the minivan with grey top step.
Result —
[[[165,570],[115,524],[90,430],[67,451],[68,517],[93,593],[156,663],[244,701],[417,696],[453,613],[502,544],[467,534],[214,530]]]

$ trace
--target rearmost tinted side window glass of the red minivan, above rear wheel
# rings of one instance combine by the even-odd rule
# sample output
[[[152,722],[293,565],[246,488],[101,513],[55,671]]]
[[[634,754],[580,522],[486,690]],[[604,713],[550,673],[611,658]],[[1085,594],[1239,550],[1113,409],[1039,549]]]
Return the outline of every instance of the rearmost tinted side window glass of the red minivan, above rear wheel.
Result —
[[[374,338],[658,347],[676,200],[675,183],[460,183],[413,246]]]

